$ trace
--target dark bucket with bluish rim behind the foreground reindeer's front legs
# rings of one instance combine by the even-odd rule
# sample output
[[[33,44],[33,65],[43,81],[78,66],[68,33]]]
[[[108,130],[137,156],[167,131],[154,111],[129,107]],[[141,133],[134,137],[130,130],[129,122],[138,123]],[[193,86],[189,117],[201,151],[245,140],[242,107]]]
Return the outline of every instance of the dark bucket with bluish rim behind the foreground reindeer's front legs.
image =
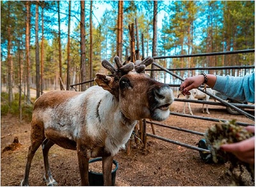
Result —
[[[101,157],[94,158],[89,161],[89,164],[95,161],[102,161],[102,158]],[[115,186],[116,170],[118,169],[118,162],[116,160],[113,160],[113,163],[115,164],[116,168],[111,172],[111,185]],[[89,184],[90,186],[104,186],[103,174],[89,170]]]

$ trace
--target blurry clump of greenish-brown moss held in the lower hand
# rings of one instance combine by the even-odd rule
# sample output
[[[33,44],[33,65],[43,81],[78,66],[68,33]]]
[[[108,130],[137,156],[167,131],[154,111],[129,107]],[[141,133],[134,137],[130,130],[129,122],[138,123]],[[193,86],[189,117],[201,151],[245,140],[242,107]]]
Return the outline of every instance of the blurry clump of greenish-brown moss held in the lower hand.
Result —
[[[212,160],[218,163],[218,160],[230,161],[230,172],[232,174],[232,185],[245,185],[241,174],[244,169],[248,170],[254,180],[254,165],[245,163],[239,160],[234,154],[225,152],[220,149],[223,144],[232,144],[235,142],[241,142],[254,134],[245,130],[243,127],[236,124],[236,120],[228,121],[226,123],[215,124],[209,128],[205,133],[205,140],[211,149]],[[240,172],[237,172],[239,170]],[[237,174],[238,173],[238,174]]]

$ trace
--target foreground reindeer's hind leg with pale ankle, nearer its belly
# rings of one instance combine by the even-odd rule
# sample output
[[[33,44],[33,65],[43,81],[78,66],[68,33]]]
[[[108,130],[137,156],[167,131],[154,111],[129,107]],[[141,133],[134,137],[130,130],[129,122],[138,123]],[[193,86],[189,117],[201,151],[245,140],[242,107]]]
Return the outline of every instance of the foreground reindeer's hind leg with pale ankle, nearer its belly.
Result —
[[[52,142],[51,140],[49,140],[47,138],[42,143],[42,150],[43,150],[43,155],[44,155],[44,168],[45,168],[44,179],[46,181],[47,186],[54,186],[54,185],[58,184],[52,177],[51,170],[49,167],[48,153],[49,153],[49,149],[51,149],[51,147],[53,145],[54,145],[54,142]]]

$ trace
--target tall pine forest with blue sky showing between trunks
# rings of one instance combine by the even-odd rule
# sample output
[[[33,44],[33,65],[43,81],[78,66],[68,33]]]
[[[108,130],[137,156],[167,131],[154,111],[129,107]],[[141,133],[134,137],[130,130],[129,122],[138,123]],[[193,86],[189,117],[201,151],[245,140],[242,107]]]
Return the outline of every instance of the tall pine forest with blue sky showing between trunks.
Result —
[[[255,1],[1,1],[1,93],[7,95],[2,103],[12,105],[15,89],[24,105],[33,103],[31,89],[38,98],[86,82],[75,87],[84,91],[95,84],[95,73],[108,73],[103,59],[132,59],[131,41],[136,59],[254,49]],[[254,53],[244,53],[157,63],[175,69],[254,65],[254,59]],[[155,76],[175,81],[161,71]]]

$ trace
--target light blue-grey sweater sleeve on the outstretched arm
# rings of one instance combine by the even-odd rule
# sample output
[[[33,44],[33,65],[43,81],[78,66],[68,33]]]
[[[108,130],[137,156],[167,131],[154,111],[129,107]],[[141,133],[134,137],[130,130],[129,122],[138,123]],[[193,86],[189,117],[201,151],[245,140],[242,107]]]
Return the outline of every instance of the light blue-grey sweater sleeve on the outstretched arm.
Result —
[[[216,75],[216,83],[212,89],[237,101],[255,103],[254,72],[244,77],[225,77]]]

